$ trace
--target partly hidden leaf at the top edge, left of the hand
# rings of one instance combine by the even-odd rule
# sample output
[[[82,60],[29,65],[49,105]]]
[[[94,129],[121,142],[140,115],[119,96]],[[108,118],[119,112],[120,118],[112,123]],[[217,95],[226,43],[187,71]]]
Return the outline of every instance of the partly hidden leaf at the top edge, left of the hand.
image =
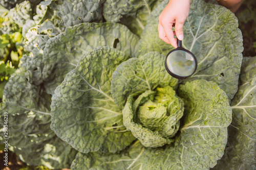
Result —
[[[120,21],[133,33],[141,35],[148,16],[161,2],[162,0],[106,0],[103,6],[103,15],[106,21]]]

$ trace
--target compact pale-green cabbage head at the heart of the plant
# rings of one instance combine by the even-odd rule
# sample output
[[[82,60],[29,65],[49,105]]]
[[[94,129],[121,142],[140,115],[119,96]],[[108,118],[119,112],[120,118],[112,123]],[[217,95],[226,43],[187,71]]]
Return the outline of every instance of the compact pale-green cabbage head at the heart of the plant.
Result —
[[[147,90],[134,101],[130,95],[123,110],[123,124],[145,147],[162,147],[179,130],[184,103],[172,87]]]

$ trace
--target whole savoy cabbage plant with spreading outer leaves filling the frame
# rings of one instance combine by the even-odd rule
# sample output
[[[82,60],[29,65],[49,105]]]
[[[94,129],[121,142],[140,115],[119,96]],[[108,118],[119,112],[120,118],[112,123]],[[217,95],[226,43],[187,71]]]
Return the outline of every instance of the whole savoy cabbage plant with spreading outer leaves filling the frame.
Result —
[[[5,86],[0,124],[7,111],[9,148],[23,161],[255,168],[255,60],[244,59],[239,82],[242,34],[229,10],[191,1],[183,46],[199,65],[178,81],[157,31],[167,0],[14,2],[2,31],[22,29],[27,54]]]

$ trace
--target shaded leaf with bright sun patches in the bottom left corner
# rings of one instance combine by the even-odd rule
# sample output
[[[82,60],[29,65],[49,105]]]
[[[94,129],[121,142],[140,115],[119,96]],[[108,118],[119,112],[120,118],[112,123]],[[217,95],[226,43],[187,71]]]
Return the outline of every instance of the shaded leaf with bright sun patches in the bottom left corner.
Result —
[[[10,146],[9,149],[28,165],[44,165],[51,169],[69,168],[77,153],[57,136],[30,148]]]

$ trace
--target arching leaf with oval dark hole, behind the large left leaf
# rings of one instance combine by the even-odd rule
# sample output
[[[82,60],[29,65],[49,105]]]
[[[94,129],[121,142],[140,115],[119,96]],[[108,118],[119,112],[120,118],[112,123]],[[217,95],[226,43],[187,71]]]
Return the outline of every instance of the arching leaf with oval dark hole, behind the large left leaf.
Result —
[[[46,89],[54,93],[80,57],[97,46],[110,46],[132,56],[139,38],[118,23],[81,23],[47,41],[44,48],[45,67],[42,72]]]

